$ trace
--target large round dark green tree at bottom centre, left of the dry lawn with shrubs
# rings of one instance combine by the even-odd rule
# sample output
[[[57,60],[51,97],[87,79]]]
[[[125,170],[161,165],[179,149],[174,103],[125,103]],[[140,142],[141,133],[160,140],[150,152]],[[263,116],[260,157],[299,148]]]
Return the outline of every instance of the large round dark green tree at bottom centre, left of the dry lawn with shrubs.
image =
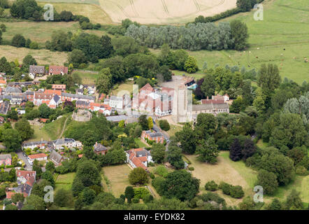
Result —
[[[163,183],[164,196],[181,201],[192,200],[199,193],[199,179],[185,170],[176,170],[166,176]]]

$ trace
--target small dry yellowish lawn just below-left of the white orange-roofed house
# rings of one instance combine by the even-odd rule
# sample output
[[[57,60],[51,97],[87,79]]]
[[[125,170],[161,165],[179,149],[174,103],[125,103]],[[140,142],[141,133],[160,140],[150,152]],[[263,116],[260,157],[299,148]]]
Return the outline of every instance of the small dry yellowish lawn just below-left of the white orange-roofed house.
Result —
[[[109,182],[107,183],[108,189],[110,190],[110,193],[113,193],[113,195],[115,195],[115,197],[120,197],[120,195],[124,193],[125,188],[127,188],[127,186],[131,186],[128,179],[131,169],[128,165],[124,164],[103,167],[102,169],[102,179],[104,179],[104,176],[106,176],[106,179],[108,179]]]

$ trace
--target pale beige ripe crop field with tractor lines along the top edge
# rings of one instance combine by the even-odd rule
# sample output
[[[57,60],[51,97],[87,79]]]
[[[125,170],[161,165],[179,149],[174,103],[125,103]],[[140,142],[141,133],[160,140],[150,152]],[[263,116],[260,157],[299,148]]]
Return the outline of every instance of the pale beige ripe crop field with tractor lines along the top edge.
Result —
[[[215,15],[236,7],[236,0],[41,0],[57,6],[69,3],[66,10],[100,23],[120,23],[129,18],[143,24],[186,23],[199,15]],[[76,5],[82,5],[80,6]],[[86,6],[86,5],[89,6]],[[95,9],[97,7],[98,9]],[[87,10],[89,13],[87,13]],[[101,10],[101,13],[98,13]]]

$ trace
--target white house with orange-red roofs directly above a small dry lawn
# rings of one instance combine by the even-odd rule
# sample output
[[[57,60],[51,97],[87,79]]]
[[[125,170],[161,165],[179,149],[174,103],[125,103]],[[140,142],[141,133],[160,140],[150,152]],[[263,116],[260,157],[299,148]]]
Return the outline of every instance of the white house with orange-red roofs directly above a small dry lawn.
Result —
[[[131,167],[142,167],[147,170],[148,162],[153,162],[150,152],[145,150],[145,148],[132,148],[126,152],[127,162]]]

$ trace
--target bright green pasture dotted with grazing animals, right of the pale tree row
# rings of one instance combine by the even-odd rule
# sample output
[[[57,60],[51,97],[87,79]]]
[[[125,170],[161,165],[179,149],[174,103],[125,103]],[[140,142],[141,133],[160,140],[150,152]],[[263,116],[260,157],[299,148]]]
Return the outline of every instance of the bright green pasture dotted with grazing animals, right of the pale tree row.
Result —
[[[309,5],[307,0],[265,0],[264,20],[255,21],[254,12],[239,13],[219,22],[234,19],[246,23],[250,37],[250,48],[236,50],[199,50],[189,51],[196,58],[199,69],[207,62],[208,68],[215,65],[245,66],[246,69],[259,69],[261,64],[277,64],[282,78],[290,78],[296,83],[309,82]],[[218,22],[217,22],[218,23]],[[285,49],[285,50],[284,50]],[[159,50],[152,50],[158,54]],[[184,71],[173,71],[182,75]],[[196,78],[203,77],[198,71],[188,74]]]

